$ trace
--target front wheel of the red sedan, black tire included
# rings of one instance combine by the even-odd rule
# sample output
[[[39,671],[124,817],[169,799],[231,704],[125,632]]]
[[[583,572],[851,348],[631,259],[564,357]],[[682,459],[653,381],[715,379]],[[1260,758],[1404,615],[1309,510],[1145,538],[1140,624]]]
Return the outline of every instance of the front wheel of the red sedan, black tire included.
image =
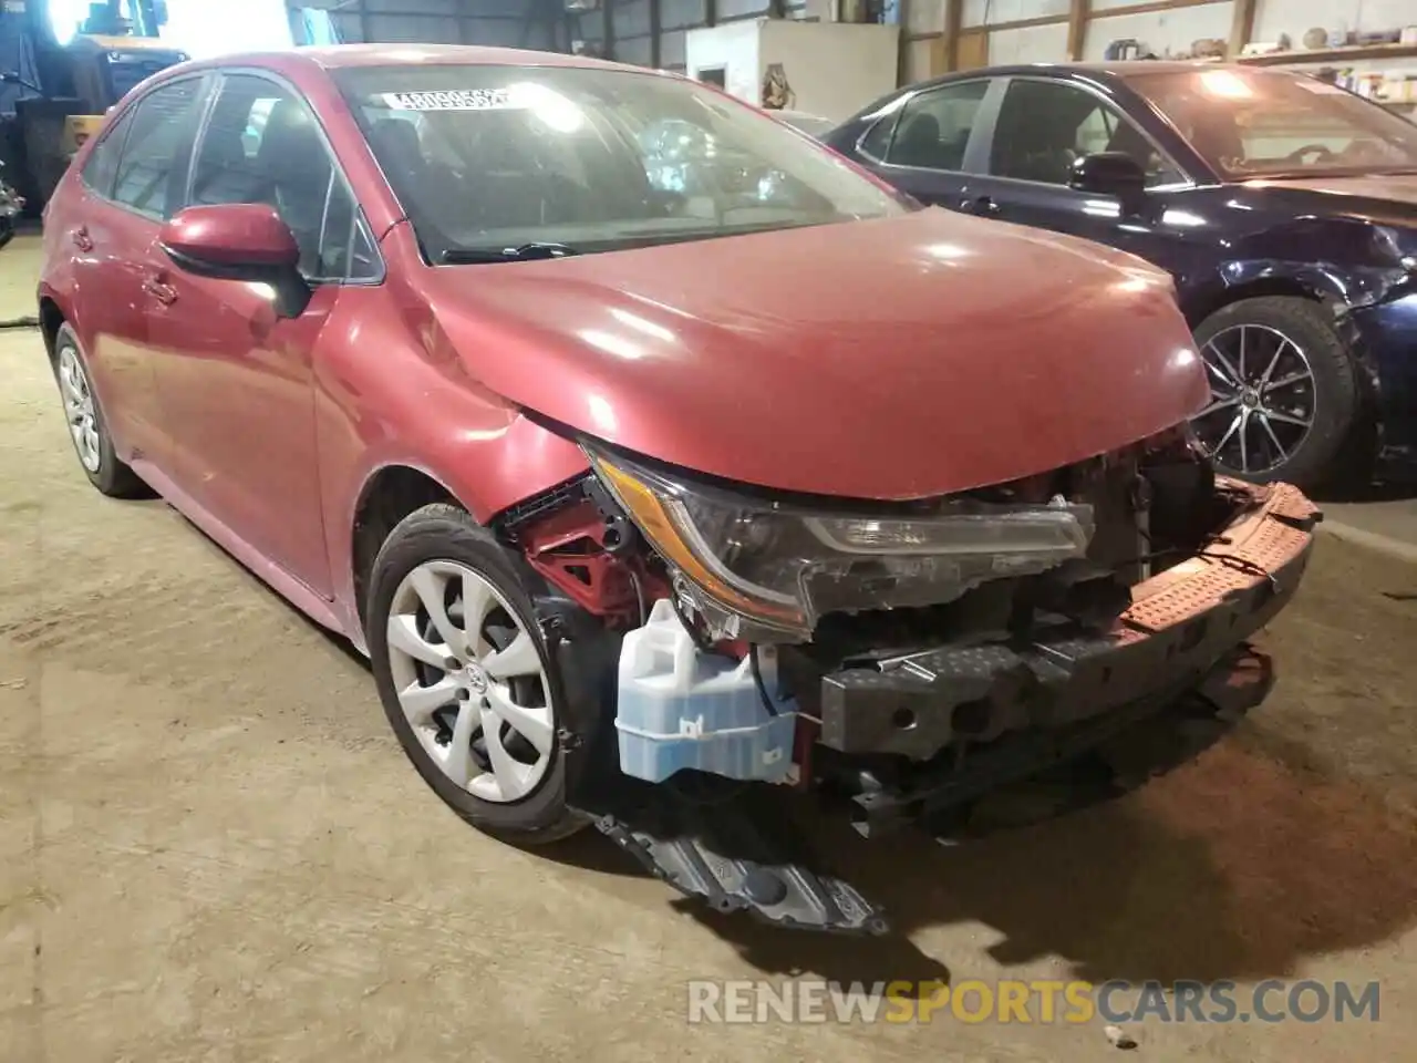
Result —
[[[574,833],[560,679],[512,554],[458,506],[415,510],[374,558],[367,641],[384,713],[463,819],[523,845]]]

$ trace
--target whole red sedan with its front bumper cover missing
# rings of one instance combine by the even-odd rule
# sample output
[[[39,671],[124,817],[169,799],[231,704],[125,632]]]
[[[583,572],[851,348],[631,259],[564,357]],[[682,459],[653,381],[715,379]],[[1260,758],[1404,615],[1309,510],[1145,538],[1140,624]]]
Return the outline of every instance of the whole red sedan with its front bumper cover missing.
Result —
[[[830,782],[863,828],[928,819],[1226,680],[1311,546],[1301,495],[1190,445],[1163,274],[652,71],[167,69],[51,200],[40,312],[94,485],[368,653],[444,801],[520,840],[598,818],[781,921],[869,909],[679,874],[597,802]]]

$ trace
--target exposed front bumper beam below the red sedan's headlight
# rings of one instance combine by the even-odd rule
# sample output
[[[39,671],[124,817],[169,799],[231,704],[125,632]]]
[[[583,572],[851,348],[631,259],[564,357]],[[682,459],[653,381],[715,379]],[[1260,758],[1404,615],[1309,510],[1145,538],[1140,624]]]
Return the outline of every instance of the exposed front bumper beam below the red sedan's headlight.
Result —
[[[1318,507],[1287,483],[1250,495],[1203,553],[1138,584],[1111,631],[1058,626],[1032,643],[942,648],[822,679],[820,741],[925,760],[959,741],[1056,729],[1151,694],[1173,696],[1288,604]]]

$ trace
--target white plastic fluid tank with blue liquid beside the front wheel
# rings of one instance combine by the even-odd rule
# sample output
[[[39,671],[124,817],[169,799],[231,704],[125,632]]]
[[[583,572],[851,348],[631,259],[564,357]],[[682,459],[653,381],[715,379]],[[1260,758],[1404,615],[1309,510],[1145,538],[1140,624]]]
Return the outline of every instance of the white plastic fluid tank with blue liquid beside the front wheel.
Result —
[[[758,668],[777,697],[777,651],[758,648]],[[662,782],[683,768],[781,782],[792,767],[796,704],[764,703],[748,658],[704,653],[667,600],[625,635],[615,730],[621,771]]]

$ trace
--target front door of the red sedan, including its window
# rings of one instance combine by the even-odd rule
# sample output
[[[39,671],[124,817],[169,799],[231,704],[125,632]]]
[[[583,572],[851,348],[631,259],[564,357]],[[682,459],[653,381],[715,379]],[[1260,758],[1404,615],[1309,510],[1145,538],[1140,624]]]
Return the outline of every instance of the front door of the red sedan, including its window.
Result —
[[[184,446],[181,489],[307,588],[330,597],[313,366],[344,283],[377,252],[309,105],[255,74],[225,75],[193,157],[187,204],[268,203],[313,288],[295,319],[255,283],[170,265],[149,306],[163,410]]]

